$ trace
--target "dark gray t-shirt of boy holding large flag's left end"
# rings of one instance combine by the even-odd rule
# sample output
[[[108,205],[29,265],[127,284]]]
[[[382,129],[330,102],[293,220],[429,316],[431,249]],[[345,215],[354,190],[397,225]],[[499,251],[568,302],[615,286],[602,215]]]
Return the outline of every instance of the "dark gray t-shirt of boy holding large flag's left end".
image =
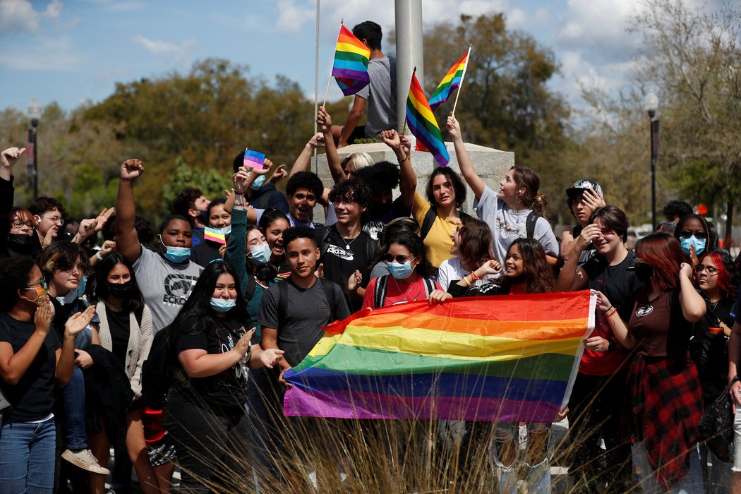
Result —
[[[288,304],[285,315],[279,321],[278,306],[280,300],[279,284],[288,284]],[[285,351],[285,360],[291,367],[299,364],[324,335],[322,327],[335,319],[344,319],[350,316],[348,304],[342,289],[336,283],[331,283],[335,290],[334,300],[336,307],[330,311],[328,298],[319,279],[308,288],[299,288],[290,278],[270,285],[260,304],[258,324],[263,328],[278,330],[278,347]],[[282,324],[282,325],[281,325]]]

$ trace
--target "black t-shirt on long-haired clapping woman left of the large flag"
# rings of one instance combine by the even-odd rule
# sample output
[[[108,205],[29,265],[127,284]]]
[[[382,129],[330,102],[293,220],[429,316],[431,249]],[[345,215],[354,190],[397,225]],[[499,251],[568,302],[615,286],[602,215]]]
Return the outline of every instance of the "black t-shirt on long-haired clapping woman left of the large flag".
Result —
[[[173,346],[175,356],[183,350],[206,350],[207,353],[227,353],[234,349],[245,322],[235,318],[215,318],[215,327],[207,332],[202,331],[203,323],[198,318],[185,322],[183,331],[176,338]],[[223,372],[205,378],[192,378],[180,367],[180,379],[176,387],[199,407],[207,407],[216,413],[238,413],[245,410],[245,387],[249,378],[247,364],[237,362]]]

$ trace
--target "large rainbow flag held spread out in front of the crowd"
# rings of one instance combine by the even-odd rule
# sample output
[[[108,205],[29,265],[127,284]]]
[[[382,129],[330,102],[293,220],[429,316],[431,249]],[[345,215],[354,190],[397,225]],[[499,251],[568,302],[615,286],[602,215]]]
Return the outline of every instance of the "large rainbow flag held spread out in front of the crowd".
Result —
[[[550,422],[568,402],[588,290],[361,310],[285,378],[285,415]]]

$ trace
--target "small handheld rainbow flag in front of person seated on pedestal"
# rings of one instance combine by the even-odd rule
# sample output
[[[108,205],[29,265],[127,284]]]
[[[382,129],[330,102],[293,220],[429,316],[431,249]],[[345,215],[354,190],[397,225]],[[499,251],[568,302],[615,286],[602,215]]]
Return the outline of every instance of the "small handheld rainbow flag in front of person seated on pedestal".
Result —
[[[371,81],[368,76],[369,59],[371,50],[368,50],[345,24],[340,25],[332,76],[336,79],[342,94],[350,96],[368,85]]]

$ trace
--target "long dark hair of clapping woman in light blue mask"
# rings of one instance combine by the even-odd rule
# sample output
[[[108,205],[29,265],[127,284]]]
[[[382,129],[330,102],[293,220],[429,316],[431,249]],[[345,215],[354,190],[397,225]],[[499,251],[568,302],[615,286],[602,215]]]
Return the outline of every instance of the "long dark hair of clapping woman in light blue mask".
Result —
[[[229,311],[229,316],[239,321],[249,319],[245,300],[242,298],[242,290],[239,290],[239,283],[237,282],[239,276],[225,261],[213,261],[205,267],[198,281],[196,281],[196,286],[190,292],[190,296],[180,308],[180,312],[175,316],[172,324],[167,327],[167,346],[169,348],[172,348],[176,338],[183,333],[208,333],[216,326],[218,316],[216,316],[216,311],[211,308],[210,301],[213,290],[216,289],[216,281],[219,276],[224,274],[233,276],[236,285],[236,306]],[[188,321],[193,318],[199,321],[196,327],[193,327],[193,324],[188,324]]]

